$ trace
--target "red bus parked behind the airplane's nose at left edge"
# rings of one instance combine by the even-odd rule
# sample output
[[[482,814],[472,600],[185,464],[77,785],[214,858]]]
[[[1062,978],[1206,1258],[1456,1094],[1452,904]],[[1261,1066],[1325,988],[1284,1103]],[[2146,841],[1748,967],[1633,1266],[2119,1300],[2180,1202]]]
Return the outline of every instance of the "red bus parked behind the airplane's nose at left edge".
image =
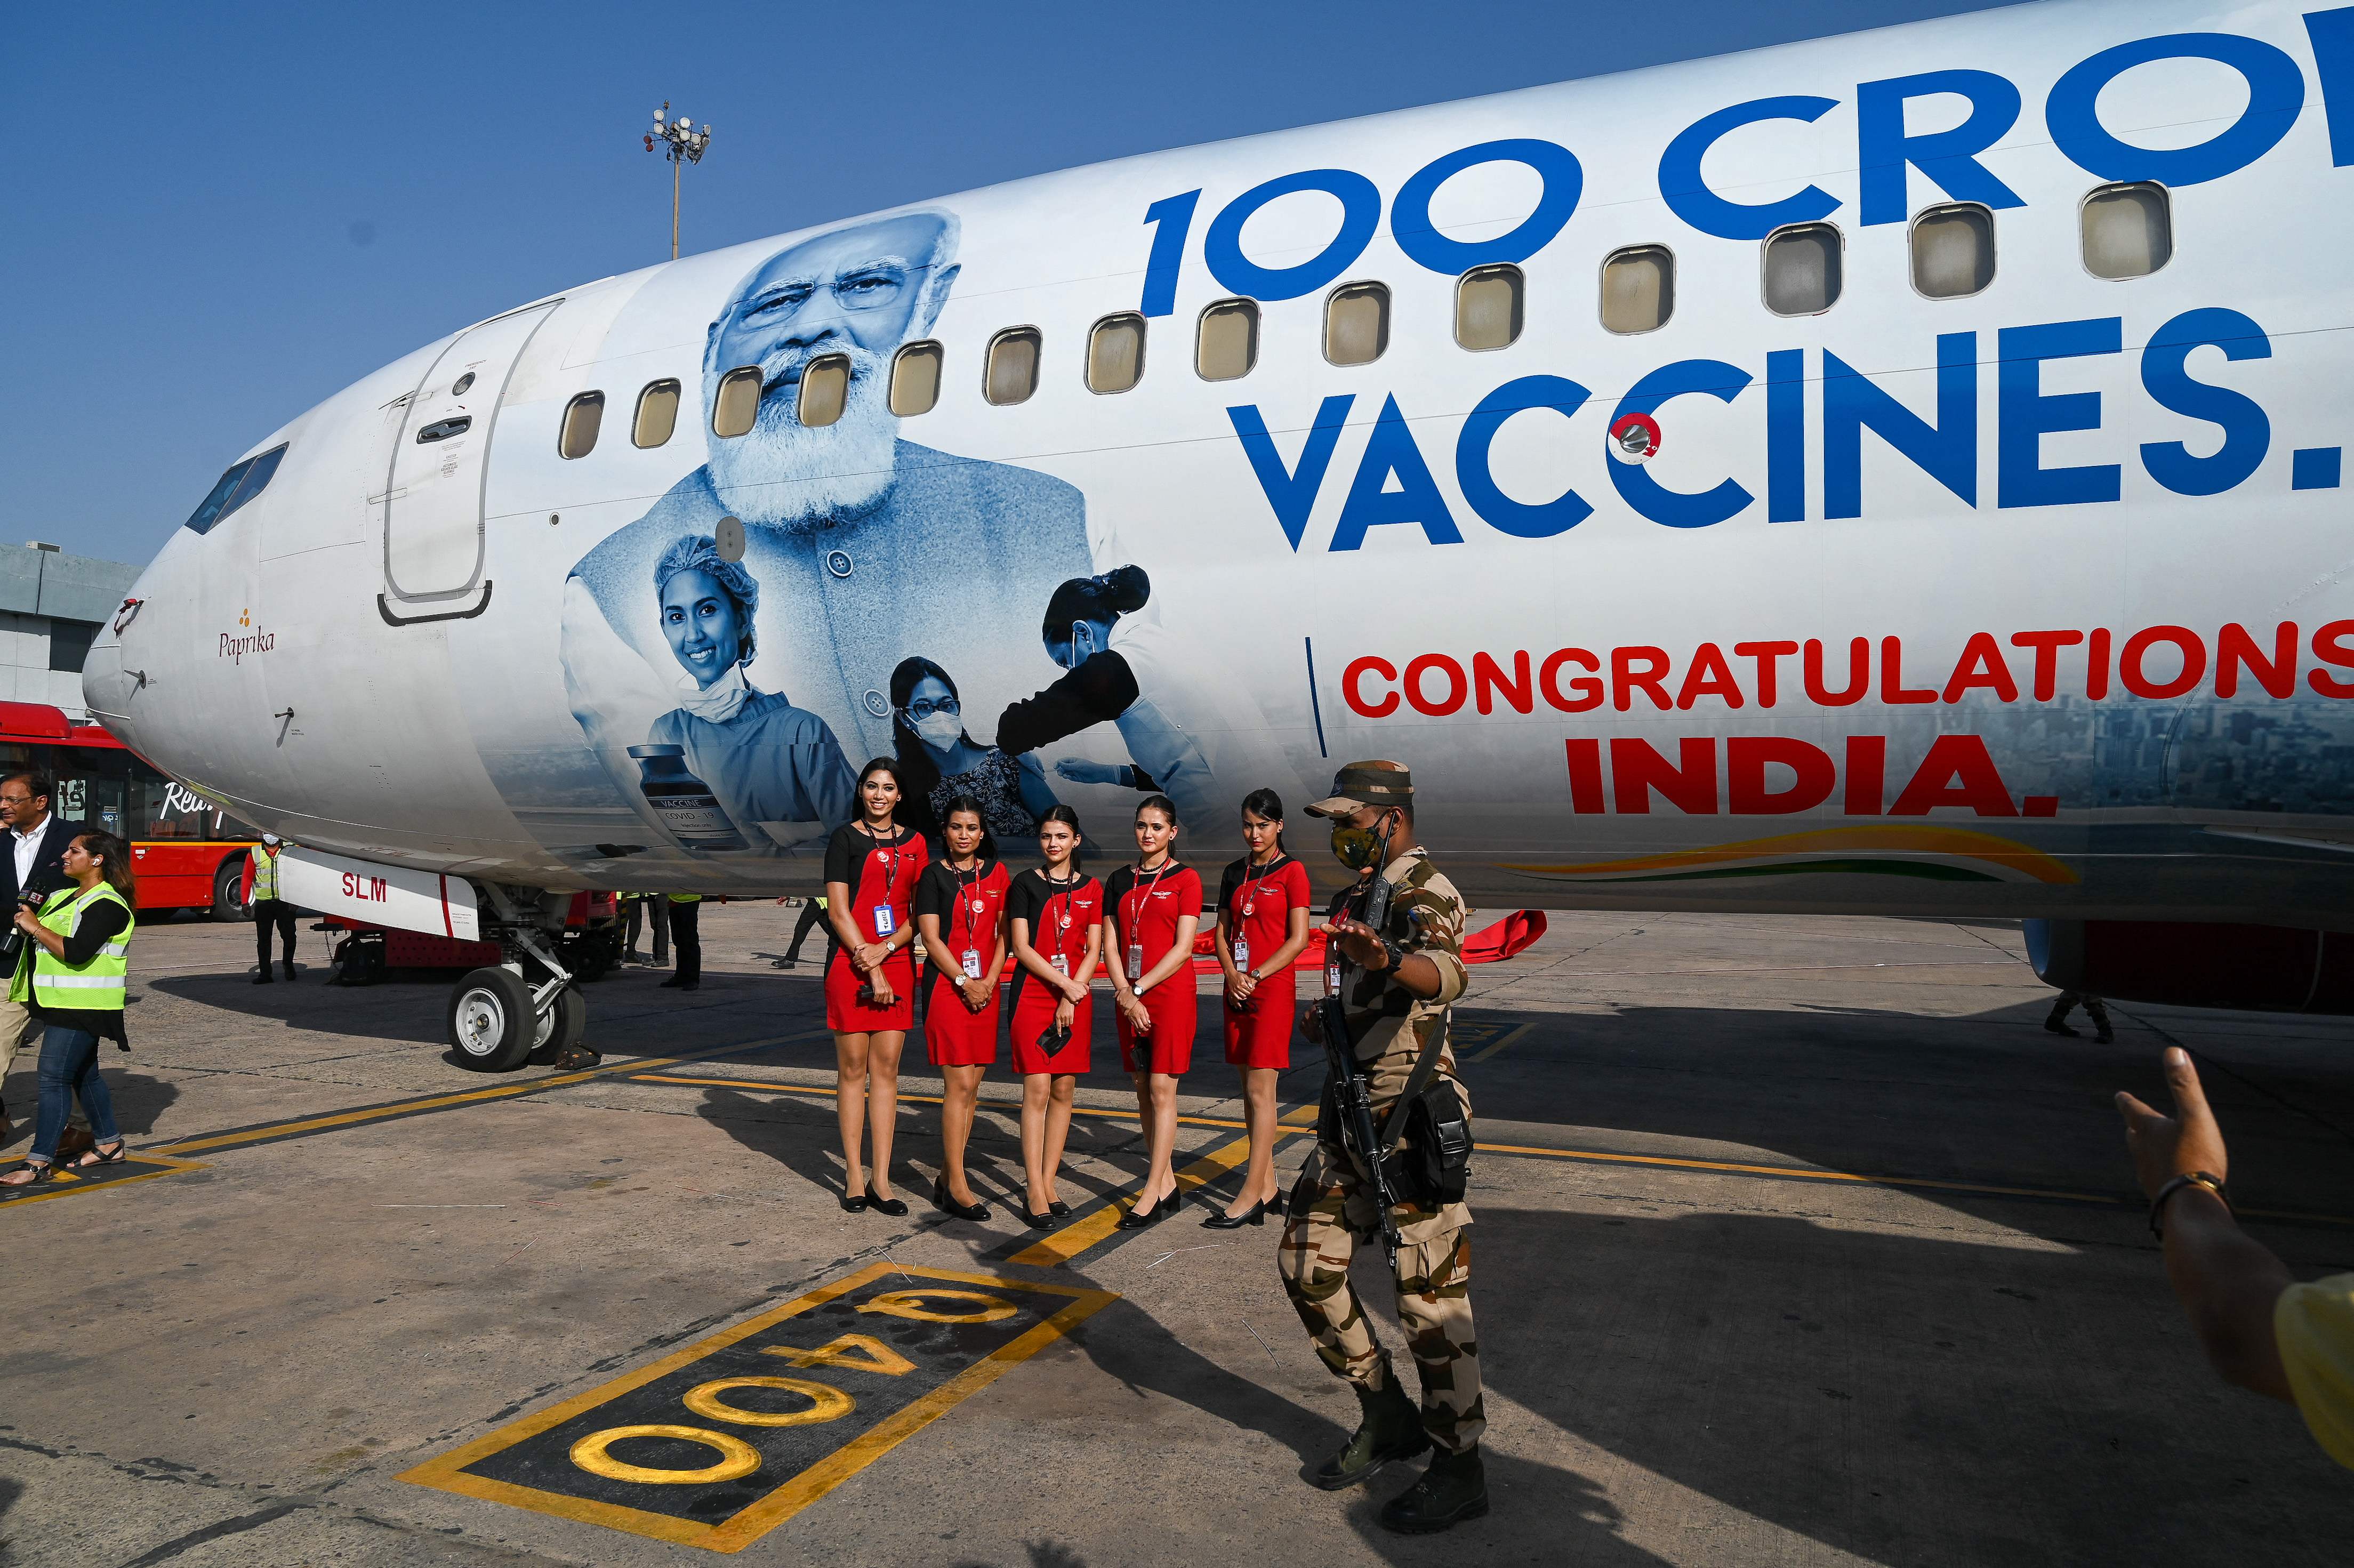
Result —
[[[64,709],[0,702],[0,772],[49,779],[49,810],[132,843],[139,909],[202,909],[242,921],[245,852],[261,836],[191,789],[162,777],[106,725]]]

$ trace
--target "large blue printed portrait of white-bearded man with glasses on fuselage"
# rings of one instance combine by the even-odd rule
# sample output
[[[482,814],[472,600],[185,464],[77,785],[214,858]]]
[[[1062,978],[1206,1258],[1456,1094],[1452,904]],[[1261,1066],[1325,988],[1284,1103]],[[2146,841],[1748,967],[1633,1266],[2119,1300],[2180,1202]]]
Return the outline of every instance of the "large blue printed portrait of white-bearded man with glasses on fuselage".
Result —
[[[892,360],[939,318],[956,247],[958,219],[939,210],[833,228],[760,261],[711,323],[704,466],[565,582],[572,711],[619,786],[636,789],[624,756],[647,739],[624,666],[676,680],[654,567],[727,516],[760,584],[760,687],[819,716],[852,758],[892,749],[890,673],[909,655],[972,650],[984,685],[989,662],[1008,666],[1008,697],[1036,685],[1038,617],[1057,584],[1092,570],[1085,499],[1045,473],[902,440],[890,412]],[[847,396],[840,419],[805,426],[800,377],[822,356],[850,363]],[[760,372],[758,410],[751,431],[718,436],[720,384],[739,367]]]

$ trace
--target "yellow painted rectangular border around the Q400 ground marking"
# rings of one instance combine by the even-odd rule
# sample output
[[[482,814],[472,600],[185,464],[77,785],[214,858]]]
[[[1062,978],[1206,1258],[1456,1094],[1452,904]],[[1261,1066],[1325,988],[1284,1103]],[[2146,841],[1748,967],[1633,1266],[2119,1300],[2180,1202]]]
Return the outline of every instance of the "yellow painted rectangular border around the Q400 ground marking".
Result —
[[[871,1429],[862,1431],[845,1446],[836,1448],[831,1455],[826,1455],[810,1469],[803,1469],[798,1476],[793,1476],[777,1490],[767,1493],[751,1507],[742,1509],[732,1519],[725,1519],[716,1526],[706,1526],[692,1519],[676,1519],[669,1514],[652,1514],[617,1502],[600,1502],[596,1497],[567,1497],[560,1493],[546,1493],[530,1486],[516,1486],[508,1481],[492,1481],[487,1476],[464,1474],[468,1464],[478,1464],[480,1460],[487,1460],[490,1455],[513,1448],[525,1439],[539,1436],[551,1427],[560,1427],[574,1415],[610,1403],[621,1394],[629,1394],[659,1377],[666,1377],[683,1366],[711,1356],[713,1351],[727,1349],[739,1340],[749,1340],[751,1335],[774,1323],[782,1323],[793,1314],[822,1307],[836,1297],[850,1295],[852,1290],[871,1285],[873,1281],[885,1276],[902,1276],[902,1278],[916,1276],[932,1281],[953,1281],[965,1285],[993,1285],[998,1290],[1026,1290],[1031,1295],[1062,1295],[1069,1297],[1069,1304],[1059,1307],[1045,1321],[1031,1326],[1019,1337],[1000,1344],[989,1356],[975,1361],[972,1366],[967,1366],[937,1389],[923,1394],[913,1403],[876,1422]],[[706,1340],[697,1340],[685,1349],[671,1351],[661,1361],[643,1366],[636,1373],[617,1377],[614,1382],[600,1384],[596,1389],[588,1389],[586,1394],[577,1394],[563,1403],[548,1406],[546,1410],[527,1415],[520,1422],[499,1427],[497,1431],[487,1431],[461,1448],[454,1448],[445,1455],[426,1460],[424,1464],[417,1464],[414,1469],[403,1471],[398,1479],[412,1486],[431,1486],[445,1493],[457,1493],[461,1497],[504,1502],[511,1507],[532,1509],[537,1514],[553,1514],[556,1519],[572,1519],[579,1523],[605,1526],[612,1530],[629,1530],[633,1535],[666,1540],[683,1547],[704,1547],[711,1552],[742,1552],[744,1547],[760,1540],[763,1535],[774,1530],[779,1523],[784,1523],[800,1509],[810,1507],[812,1502],[831,1493],[836,1486],[840,1486],[857,1471],[880,1460],[885,1453],[890,1453],[906,1439],[916,1436],[918,1431],[937,1422],[960,1401],[986,1389],[991,1382],[1012,1370],[1015,1363],[1029,1361],[1040,1349],[1064,1337],[1071,1328],[1076,1328],[1088,1316],[1102,1311],[1116,1300],[1121,1297],[1111,1290],[1085,1290],[1078,1285],[1048,1285],[1040,1281],[1005,1278],[998,1274],[960,1274],[953,1269],[923,1269],[913,1264],[899,1267],[892,1262],[876,1262],[869,1264],[866,1269],[859,1269],[857,1274],[838,1278],[829,1285],[819,1285],[807,1295],[784,1302],[782,1307],[772,1307],[770,1311],[746,1318],[734,1328],[723,1328],[720,1333]],[[619,1441],[610,1431],[598,1436],[610,1436],[612,1441]],[[701,1443],[723,1434],[706,1434],[701,1429],[680,1429],[676,1431],[676,1436],[687,1436],[690,1441]],[[723,1455],[730,1453],[727,1446],[723,1443],[716,1443],[716,1448]],[[579,1462],[579,1446],[574,1446],[574,1462]],[[664,1474],[678,1474],[678,1471],[664,1471]]]

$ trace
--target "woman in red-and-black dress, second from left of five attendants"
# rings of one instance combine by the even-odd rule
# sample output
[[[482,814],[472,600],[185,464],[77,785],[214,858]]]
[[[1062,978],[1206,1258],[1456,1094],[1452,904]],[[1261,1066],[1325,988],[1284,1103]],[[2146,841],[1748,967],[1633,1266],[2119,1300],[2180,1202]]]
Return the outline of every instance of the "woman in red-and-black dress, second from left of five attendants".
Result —
[[[946,1081],[939,1107],[939,1180],[932,1208],[986,1220],[989,1205],[965,1184],[965,1142],[982,1074],[998,1059],[998,975],[1005,970],[1005,862],[986,850],[982,803],[949,796],[939,824],[946,859],[916,883],[916,932],[930,968],[923,989],[923,1050]]]

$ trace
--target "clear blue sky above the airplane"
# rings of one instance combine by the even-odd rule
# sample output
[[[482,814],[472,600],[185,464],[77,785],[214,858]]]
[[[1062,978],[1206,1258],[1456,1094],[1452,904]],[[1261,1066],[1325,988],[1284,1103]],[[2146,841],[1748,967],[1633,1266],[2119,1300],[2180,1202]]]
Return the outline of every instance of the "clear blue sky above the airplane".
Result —
[[[669,254],[652,108],[718,127],[687,252],[1165,146],[1970,0],[40,5],[0,87],[0,542],[144,563],[273,426]],[[1476,26],[1474,26],[1476,21]]]

